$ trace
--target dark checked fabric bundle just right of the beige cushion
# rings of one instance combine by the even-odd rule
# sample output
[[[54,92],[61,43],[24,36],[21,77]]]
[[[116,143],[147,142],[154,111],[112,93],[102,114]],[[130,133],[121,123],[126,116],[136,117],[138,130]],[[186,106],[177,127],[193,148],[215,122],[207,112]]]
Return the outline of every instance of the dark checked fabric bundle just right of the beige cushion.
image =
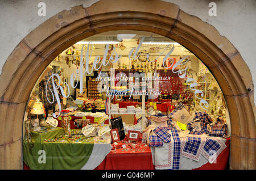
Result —
[[[199,120],[199,121],[196,121]],[[195,128],[192,127],[192,123],[200,122],[200,131],[196,131]],[[209,134],[208,125],[213,122],[212,117],[208,115],[206,112],[195,112],[195,117],[191,123],[187,124],[187,128],[190,131],[190,134]]]

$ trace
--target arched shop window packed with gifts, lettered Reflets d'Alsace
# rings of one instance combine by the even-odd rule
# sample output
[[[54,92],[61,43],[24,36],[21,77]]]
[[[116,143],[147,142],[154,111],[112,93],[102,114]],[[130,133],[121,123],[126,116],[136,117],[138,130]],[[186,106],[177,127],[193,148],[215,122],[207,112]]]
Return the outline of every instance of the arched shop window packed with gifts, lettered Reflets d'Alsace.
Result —
[[[185,158],[193,169],[216,162],[230,141],[228,108],[203,60],[143,31],[100,33],[61,52],[36,82],[24,123],[30,169],[97,169],[105,155],[125,153],[147,153],[150,169],[188,169]],[[180,159],[163,163],[168,144]]]

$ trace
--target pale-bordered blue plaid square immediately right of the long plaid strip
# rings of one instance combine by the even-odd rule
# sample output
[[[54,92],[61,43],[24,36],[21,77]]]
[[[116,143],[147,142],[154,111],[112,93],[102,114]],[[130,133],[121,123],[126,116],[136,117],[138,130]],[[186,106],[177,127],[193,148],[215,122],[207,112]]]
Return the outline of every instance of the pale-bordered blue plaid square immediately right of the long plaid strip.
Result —
[[[181,155],[199,162],[204,145],[204,137],[181,138]]]

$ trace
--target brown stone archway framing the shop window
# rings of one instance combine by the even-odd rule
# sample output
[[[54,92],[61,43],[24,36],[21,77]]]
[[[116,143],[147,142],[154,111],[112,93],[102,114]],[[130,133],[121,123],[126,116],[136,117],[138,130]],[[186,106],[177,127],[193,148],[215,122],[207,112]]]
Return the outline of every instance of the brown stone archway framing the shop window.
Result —
[[[73,7],[24,37],[0,76],[0,169],[22,169],[26,103],[47,65],[77,41],[111,30],[141,30],[170,37],[191,50],[216,77],[230,113],[230,169],[255,169],[255,105],[250,70],[236,48],[210,24],[159,0],[104,1]]]

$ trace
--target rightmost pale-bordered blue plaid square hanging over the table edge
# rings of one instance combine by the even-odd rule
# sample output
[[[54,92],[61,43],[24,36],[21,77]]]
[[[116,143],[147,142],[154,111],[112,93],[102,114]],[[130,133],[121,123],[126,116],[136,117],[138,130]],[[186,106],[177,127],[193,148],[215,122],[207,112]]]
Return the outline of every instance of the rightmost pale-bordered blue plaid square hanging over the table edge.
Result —
[[[223,138],[212,137],[207,138],[205,141],[204,149],[202,151],[203,156],[208,159],[209,163],[213,163],[221,151],[226,148],[226,145],[221,141]]]

